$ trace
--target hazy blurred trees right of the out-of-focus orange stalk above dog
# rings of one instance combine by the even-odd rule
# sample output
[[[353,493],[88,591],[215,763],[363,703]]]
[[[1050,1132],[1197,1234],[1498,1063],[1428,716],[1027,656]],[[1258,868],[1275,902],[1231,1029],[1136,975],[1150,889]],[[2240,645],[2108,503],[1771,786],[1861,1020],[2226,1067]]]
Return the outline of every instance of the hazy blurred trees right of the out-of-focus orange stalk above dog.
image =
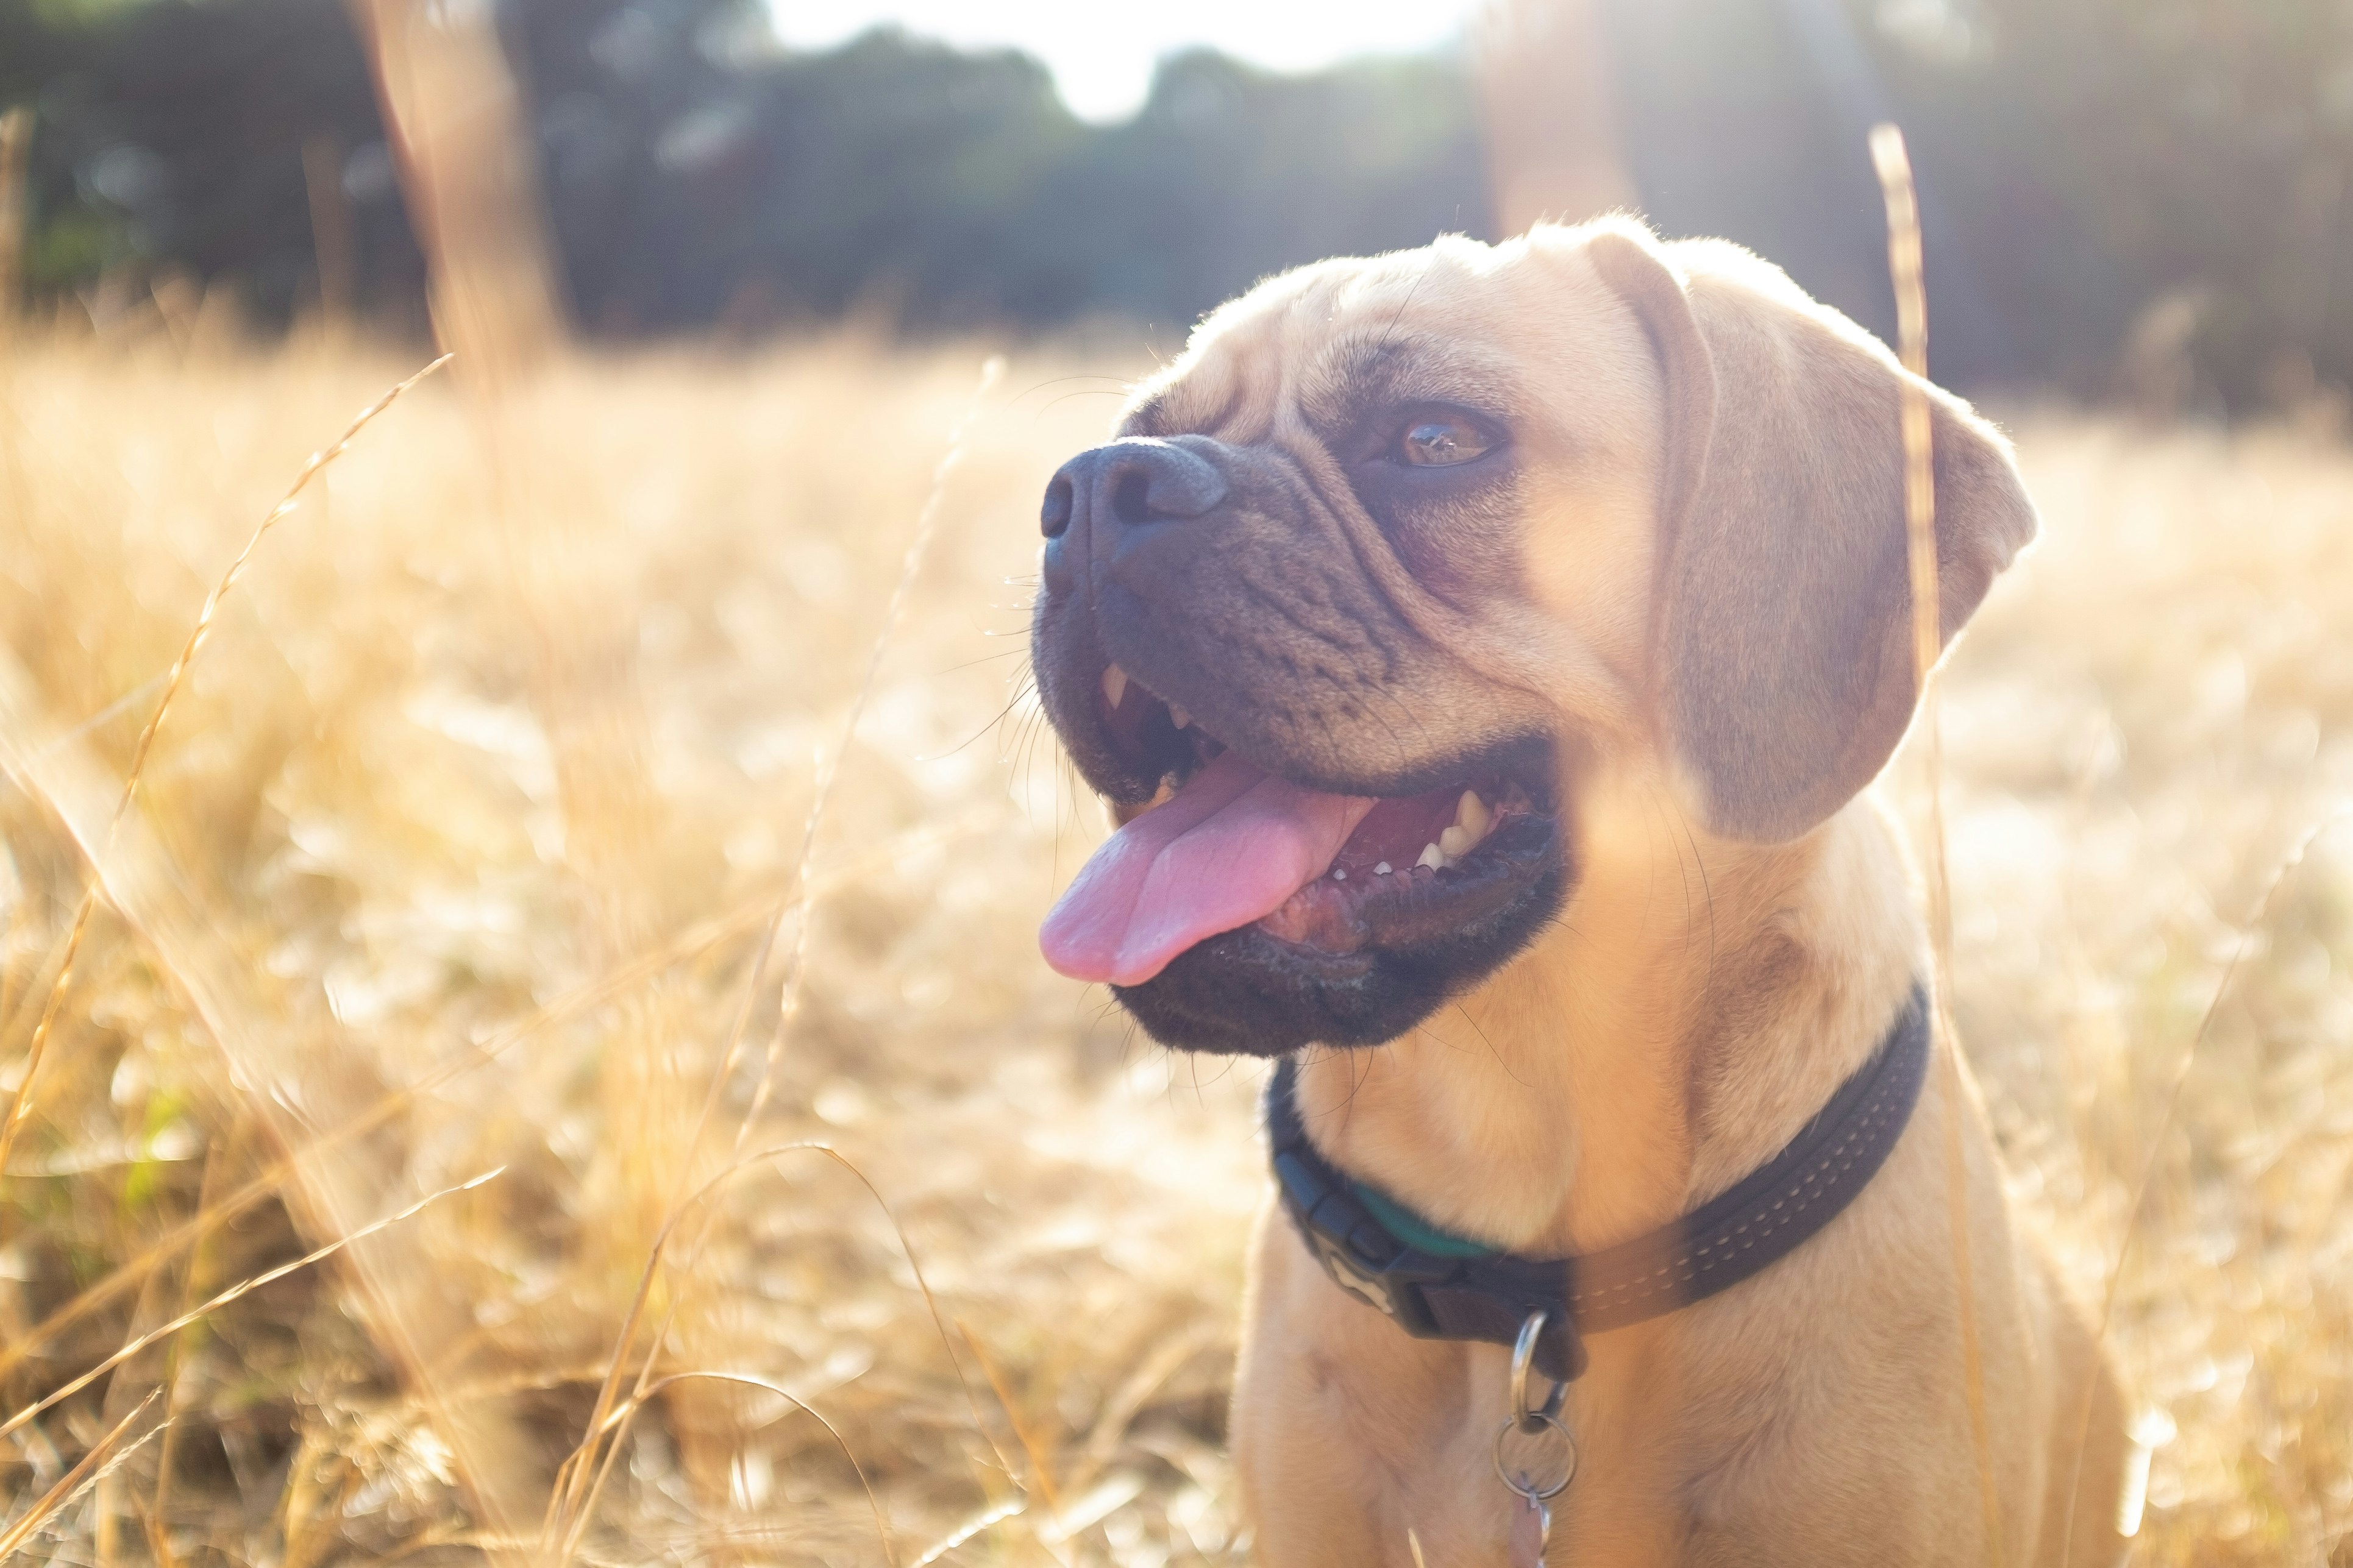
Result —
[[[1885,331],[1861,129],[1897,118],[1939,378],[2155,376],[2212,407],[2353,381],[2353,7],[2334,0],[1609,0],[1626,146]]]

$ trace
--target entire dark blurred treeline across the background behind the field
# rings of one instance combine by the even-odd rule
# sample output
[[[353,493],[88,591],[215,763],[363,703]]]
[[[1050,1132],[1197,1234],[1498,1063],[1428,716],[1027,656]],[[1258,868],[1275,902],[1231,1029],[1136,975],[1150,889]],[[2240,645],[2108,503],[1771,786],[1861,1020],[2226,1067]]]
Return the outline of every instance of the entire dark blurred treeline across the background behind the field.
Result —
[[[591,331],[871,310],[1174,336],[1299,261],[1492,233],[1482,122],[1499,176],[1584,169],[1614,122],[1664,230],[1744,240],[1887,329],[1864,127],[1897,118],[1941,378],[2104,393],[2129,369],[2212,404],[2353,381],[2337,0],[1513,0],[1574,26],[1487,56],[1485,101],[1452,56],[1278,78],[1186,54],[1113,127],[1019,54],[896,33],[779,52],[758,0],[485,2]],[[40,108],[35,287],[179,266],[282,317],[318,292],[320,235],[346,233],[311,216],[332,148],[360,306],[419,320],[341,0],[0,0],[12,101]],[[1506,221],[1532,200],[1567,197],[1504,190]]]

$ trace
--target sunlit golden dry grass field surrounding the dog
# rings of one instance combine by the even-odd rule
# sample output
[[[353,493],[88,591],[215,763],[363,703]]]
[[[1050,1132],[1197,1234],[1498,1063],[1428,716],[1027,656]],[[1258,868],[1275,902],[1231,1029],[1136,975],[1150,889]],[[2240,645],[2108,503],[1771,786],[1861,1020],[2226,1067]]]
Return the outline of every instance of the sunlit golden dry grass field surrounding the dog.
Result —
[[[207,590],[414,364],[19,341],[0,1556],[1242,1561],[1259,1070],[1033,936],[1101,832],[1021,701],[1035,498],[1144,360],[986,353],[424,381],[111,832]],[[2137,1561],[2344,1566],[2353,451],[2012,423],[2047,538],[1946,682],[1960,1025],[2087,1300],[2122,1258],[2177,1427]]]

